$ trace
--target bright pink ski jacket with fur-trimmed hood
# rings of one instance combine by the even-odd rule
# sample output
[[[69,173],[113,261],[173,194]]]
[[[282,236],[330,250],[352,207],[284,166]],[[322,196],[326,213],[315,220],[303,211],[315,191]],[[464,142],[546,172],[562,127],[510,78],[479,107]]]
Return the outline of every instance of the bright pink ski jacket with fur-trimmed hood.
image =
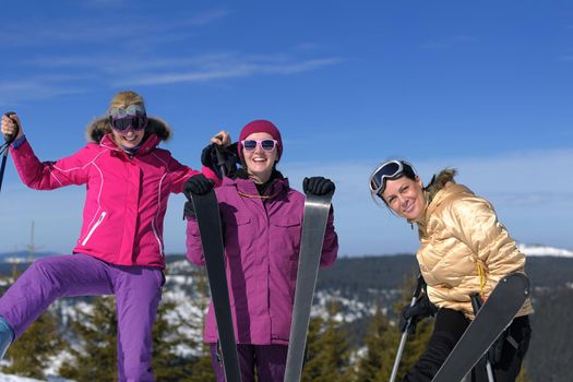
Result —
[[[11,147],[15,167],[32,189],[86,186],[82,230],[73,253],[111,264],[163,268],[167,200],[199,172],[157,147],[170,135],[164,122],[150,119],[152,132],[132,156],[116,145],[111,134],[105,134],[106,123],[105,119],[96,120],[88,128],[94,142],[57,162],[40,163],[27,141]]]

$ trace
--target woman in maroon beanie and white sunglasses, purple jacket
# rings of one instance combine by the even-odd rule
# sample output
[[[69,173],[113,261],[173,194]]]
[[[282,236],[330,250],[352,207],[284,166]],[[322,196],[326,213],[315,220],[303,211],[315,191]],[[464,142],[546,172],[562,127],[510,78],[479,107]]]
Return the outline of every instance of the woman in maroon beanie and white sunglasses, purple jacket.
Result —
[[[225,241],[227,283],[237,338],[241,379],[282,382],[288,349],[305,195],[276,170],[283,154],[278,129],[255,120],[241,131],[238,155],[242,168],[225,177],[215,192],[219,202]],[[334,192],[322,177],[307,178],[306,193]],[[188,217],[188,258],[203,265],[199,227],[192,205]],[[336,259],[338,241],[331,212],[322,248],[321,265]],[[213,307],[206,317],[204,339],[211,344],[218,381],[225,381],[217,361],[217,330]]]

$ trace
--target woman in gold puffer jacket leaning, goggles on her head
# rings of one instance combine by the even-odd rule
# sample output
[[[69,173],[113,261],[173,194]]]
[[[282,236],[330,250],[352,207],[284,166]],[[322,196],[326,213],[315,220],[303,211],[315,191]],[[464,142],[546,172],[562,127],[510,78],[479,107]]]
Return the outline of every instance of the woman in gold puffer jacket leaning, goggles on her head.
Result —
[[[486,299],[500,278],[524,272],[525,255],[498,220],[493,206],[454,181],[455,170],[445,169],[423,187],[411,165],[389,160],[370,177],[372,195],[396,215],[417,224],[420,248],[416,254],[426,293],[414,307],[402,312],[399,327],[406,329],[435,314],[427,349],[404,381],[431,381],[474,319],[470,295]],[[510,325],[510,341],[499,341],[492,367],[497,382],[514,381],[530,338],[527,300]],[[513,341],[512,341],[513,339]],[[487,381],[485,371],[473,381]]]

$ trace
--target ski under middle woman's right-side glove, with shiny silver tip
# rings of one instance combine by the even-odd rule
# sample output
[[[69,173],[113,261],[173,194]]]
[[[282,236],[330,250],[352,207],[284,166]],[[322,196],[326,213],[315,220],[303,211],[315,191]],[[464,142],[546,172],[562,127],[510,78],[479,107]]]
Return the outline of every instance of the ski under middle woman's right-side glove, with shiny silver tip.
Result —
[[[298,259],[295,307],[285,371],[285,382],[299,382],[302,373],[305,347],[310,322],[310,309],[314,297],[314,287],[319,275],[324,232],[331,210],[332,194],[307,195],[300,253]]]

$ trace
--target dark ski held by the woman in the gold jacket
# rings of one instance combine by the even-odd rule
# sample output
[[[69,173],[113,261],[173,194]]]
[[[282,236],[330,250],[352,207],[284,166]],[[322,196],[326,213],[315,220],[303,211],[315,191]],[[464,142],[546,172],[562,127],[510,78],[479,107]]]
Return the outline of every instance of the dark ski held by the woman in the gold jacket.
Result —
[[[513,273],[500,279],[432,381],[461,381],[512,323],[528,296],[525,275]]]

